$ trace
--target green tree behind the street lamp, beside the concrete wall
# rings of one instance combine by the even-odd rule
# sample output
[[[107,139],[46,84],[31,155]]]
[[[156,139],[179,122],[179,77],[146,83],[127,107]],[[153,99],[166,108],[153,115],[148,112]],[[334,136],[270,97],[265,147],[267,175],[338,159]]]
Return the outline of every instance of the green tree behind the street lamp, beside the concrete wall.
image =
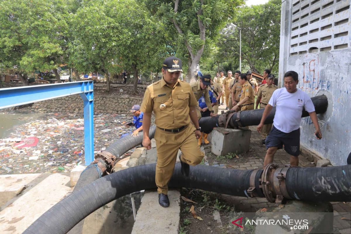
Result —
[[[280,40],[280,0],[240,8],[234,24],[241,28],[241,56],[253,72],[277,71]],[[239,29],[227,26],[218,40],[219,54],[239,58]]]

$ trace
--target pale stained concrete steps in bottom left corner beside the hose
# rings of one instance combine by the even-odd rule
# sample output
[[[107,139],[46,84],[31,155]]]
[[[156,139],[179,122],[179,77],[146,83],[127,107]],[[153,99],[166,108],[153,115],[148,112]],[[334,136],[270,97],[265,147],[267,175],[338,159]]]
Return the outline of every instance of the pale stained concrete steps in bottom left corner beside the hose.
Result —
[[[23,233],[72,191],[69,173],[0,176],[0,233]]]

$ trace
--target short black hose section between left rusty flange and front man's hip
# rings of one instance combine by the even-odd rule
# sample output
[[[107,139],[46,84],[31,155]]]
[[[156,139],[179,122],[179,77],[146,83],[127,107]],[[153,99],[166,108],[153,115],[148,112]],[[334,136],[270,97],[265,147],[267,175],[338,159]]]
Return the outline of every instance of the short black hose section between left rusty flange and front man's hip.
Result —
[[[150,127],[149,138],[152,139],[155,135],[156,126]],[[115,142],[105,149],[105,151],[110,152],[117,158],[122,156],[128,150],[137,147],[143,142],[143,132],[140,132],[137,137],[132,135],[125,136]]]

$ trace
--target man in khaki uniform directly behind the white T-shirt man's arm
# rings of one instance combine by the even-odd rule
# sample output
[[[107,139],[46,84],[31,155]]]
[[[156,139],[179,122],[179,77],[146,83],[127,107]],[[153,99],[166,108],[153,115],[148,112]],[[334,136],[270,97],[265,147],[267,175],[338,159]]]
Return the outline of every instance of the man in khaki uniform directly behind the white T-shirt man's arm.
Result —
[[[258,107],[258,103],[261,100],[260,103],[260,109],[264,109],[269,100],[271,99],[271,96],[273,95],[273,92],[278,88],[278,86],[274,85],[274,75],[273,74],[269,74],[267,76],[267,83],[263,84],[260,86],[258,93],[257,93],[257,100],[256,100],[256,109]],[[262,136],[262,144],[265,144],[266,142],[266,137],[268,136],[268,134],[271,132],[272,129],[272,124],[265,124],[263,125],[262,129],[261,129],[261,136]]]

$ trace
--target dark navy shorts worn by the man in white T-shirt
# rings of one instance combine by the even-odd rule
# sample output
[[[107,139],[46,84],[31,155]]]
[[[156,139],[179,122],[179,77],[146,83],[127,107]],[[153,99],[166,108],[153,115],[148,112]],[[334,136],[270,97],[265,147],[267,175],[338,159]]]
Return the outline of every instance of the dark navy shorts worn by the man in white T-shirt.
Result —
[[[300,128],[290,133],[279,131],[276,127],[272,127],[271,132],[266,138],[266,148],[278,147],[292,156],[299,156],[300,154]]]

